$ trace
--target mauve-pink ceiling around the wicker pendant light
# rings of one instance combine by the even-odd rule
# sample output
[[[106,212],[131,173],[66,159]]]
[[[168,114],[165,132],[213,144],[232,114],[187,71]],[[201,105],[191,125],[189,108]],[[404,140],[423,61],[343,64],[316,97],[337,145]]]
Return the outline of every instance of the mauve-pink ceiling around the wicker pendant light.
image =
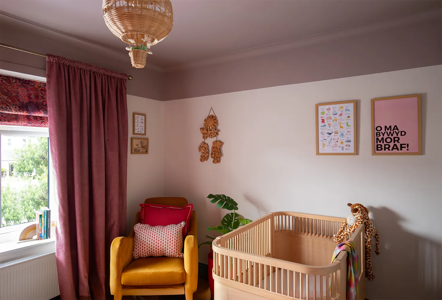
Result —
[[[172,0],[174,26],[148,63],[169,67],[441,7],[440,0]],[[127,53],[101,0],[1,0],[0,12]],[[6,25],[7,24],[3,24]]]

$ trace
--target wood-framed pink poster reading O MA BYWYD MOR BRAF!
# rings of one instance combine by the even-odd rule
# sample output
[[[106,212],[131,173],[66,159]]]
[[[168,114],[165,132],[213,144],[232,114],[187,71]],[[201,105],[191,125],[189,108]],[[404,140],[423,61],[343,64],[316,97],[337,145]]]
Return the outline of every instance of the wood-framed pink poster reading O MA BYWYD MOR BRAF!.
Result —
[[[420,95],[371,99],[372,155],[422,155]]]

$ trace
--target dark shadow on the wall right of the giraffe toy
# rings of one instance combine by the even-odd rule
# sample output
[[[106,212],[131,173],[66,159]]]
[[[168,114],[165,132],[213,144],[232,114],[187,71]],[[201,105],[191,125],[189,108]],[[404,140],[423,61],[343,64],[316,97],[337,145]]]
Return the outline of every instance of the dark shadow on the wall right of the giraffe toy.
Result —
[[[368,209],[379,232],[380,255],[373,250],[376,279],[366,282],[366,298],[442,299],[441,244],[405,231],[400,225],[405,220],[391,209]]]

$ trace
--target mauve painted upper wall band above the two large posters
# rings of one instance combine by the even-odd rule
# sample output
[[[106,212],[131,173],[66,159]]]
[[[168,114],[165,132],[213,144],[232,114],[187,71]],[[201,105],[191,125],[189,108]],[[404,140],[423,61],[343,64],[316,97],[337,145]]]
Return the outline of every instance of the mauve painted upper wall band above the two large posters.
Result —
[[[353,38],[165,74],[165,100],[442,63],[440,18]]]

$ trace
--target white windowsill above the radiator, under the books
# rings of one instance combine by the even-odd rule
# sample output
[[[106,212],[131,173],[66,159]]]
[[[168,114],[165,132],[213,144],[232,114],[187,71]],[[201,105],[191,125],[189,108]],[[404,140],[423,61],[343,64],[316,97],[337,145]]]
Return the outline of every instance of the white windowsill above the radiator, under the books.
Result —
[[[55,249],[55,238],[0,244],[0,263],[40,254]]]

